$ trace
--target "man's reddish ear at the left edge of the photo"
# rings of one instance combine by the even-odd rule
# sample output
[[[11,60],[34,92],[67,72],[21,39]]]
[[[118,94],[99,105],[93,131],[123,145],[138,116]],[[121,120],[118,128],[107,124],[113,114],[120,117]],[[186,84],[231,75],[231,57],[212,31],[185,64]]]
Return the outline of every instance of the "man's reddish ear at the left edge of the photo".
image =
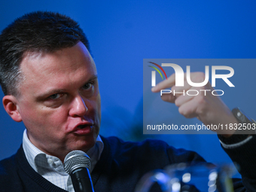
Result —
[[[22,118],[20,116],[19,106],[17,105],[17,99],[15,96],[4,96],[3,105],[5,108],[5,111],[10,115],[10,117],[13,120],[17,122],[22,121]]]

